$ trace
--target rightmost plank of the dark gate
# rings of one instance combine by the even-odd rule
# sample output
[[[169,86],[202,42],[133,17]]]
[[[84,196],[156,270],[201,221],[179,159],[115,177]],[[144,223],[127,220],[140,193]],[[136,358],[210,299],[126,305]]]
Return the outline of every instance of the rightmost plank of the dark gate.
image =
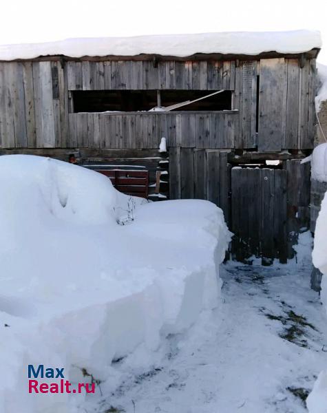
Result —
[[[284,169],[274,170],[274,242],[275,257],[282,264],[287,263],[287,171]],[[265,235],[264,235],[265,236]]]

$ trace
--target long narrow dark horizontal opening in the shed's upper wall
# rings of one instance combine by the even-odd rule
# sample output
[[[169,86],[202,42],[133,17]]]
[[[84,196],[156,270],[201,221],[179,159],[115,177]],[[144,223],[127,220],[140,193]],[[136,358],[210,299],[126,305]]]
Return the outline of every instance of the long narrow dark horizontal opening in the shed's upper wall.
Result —
[[[163,107],[196,100],[215,90],[76,90],[72,91],[74,112],[148,111],[161,103]],[[180,111],[231,110],[230,90],[184,105]],[[158,102],[159,100],[159,102]]]

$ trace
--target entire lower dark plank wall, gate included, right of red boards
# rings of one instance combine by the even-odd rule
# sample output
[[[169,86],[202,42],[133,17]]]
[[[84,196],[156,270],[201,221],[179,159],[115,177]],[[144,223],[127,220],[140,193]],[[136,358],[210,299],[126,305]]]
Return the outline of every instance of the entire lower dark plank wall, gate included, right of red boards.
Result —
[[[229,151],[169,150],[170,198],[209,200],[224,211],[233,259],[293,258],[299,232],[309,228],[310,167],[286,160],[282,169],[231,167]]]

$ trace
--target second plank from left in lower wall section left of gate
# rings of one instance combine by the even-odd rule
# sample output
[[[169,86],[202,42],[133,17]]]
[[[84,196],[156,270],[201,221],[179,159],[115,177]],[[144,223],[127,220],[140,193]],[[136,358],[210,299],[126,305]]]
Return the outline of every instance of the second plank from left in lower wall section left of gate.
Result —
[[[194,155],[193,148],[180,148],[180,175],[182,199],[194,198]]]

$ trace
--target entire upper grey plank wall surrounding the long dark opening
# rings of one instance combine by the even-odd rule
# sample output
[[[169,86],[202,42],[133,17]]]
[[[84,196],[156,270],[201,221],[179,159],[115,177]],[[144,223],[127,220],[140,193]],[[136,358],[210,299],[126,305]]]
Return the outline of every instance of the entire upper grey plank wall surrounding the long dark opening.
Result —
[[[71,92],[92,89],[229,89],[235,111],[72,113]],[[303,67],[299,59],[1,62],[0,145],[156,147],[165,136],[171,146],[199,149],[312,149],[314,96],[315,59]]]

